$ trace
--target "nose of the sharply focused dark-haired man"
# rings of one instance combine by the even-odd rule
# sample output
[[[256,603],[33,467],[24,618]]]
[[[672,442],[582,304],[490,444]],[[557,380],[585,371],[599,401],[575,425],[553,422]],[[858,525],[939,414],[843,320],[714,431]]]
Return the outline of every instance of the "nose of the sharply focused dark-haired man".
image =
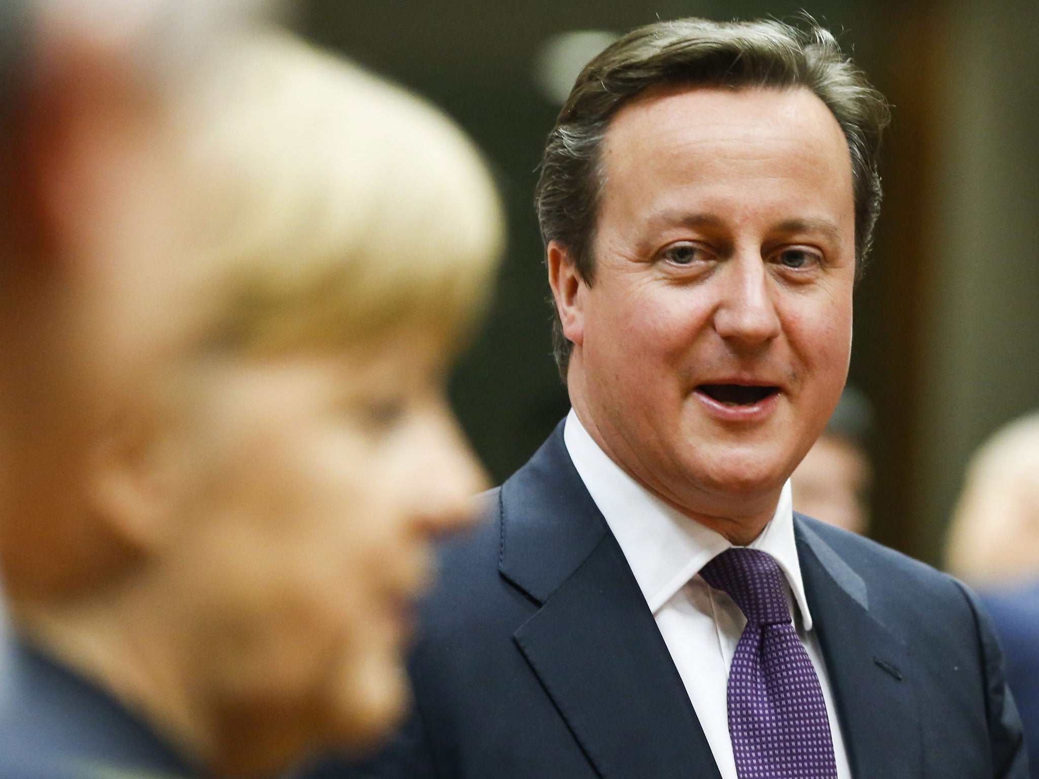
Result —
[[[718,279],[715,330],[726,341],[755,347],[776,338],[781,325],[765,260],[754,251],[735,256]]]

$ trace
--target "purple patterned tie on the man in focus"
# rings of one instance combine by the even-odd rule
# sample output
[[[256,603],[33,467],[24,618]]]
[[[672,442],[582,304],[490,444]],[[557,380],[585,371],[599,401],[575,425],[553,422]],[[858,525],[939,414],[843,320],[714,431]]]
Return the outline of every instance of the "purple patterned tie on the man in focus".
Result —
[[[728,674],[728,732],[740,779],[835,779],[826,701],[794,629],[771,556],[732,547],[700,570],[747,618]]]

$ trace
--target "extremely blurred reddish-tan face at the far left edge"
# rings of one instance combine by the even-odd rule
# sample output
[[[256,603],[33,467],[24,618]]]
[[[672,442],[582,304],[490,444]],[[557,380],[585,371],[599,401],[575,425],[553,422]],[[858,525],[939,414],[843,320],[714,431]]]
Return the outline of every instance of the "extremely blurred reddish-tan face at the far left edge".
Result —
[[[33,596],[107,564],[81,521],[88,450],[205,308],[181,304],[198,231],[182,216],[172,96],[103,42],[37,54],[0,248],[0,554],[8,587]]]

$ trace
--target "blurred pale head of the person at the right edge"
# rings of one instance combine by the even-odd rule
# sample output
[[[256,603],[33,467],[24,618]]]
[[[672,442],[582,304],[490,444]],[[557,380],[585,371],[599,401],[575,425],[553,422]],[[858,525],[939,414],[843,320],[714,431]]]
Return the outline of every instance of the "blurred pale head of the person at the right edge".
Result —
[[[1010,423],[975,454],[947,563],[978,586],[1039,579],[1039,413]]]

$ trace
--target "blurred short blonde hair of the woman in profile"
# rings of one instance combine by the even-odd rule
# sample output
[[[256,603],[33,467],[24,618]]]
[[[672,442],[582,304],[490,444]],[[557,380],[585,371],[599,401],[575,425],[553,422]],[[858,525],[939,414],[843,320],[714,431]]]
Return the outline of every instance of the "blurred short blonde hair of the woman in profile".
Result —
[[[472,141],[420,98],[288,34],[223,56],[187,114],[204,128],[189,152],[216,236],[199,243],[219,298],[209,345],[464,334],[504,232]]]

